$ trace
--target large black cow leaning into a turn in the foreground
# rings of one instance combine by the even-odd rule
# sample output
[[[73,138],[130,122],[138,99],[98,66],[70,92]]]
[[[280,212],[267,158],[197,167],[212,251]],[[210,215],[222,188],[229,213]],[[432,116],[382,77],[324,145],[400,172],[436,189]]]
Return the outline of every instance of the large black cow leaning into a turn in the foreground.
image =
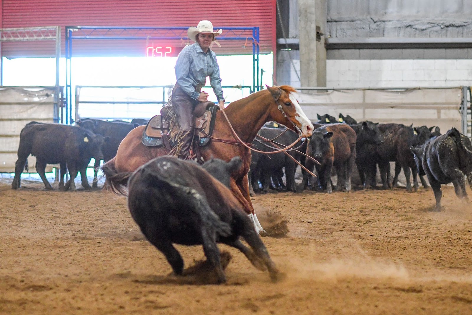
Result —
[[[241,204],[228,189],[230,174],[241,165],[239,157],[229,163],[213,159],[201,167],[165,156],[152,159],[131,175],[128,183],[131,215],[149,242],[166,256],[175,274],[182,275],[184,261],[173,243],[203,245],[219,282],[225,282],[217,246],[224,243],[243,252],[256,268],[269,269],[270,278],[278,280],[277,267]],[[252,250],[239,241],[239,236]]]

